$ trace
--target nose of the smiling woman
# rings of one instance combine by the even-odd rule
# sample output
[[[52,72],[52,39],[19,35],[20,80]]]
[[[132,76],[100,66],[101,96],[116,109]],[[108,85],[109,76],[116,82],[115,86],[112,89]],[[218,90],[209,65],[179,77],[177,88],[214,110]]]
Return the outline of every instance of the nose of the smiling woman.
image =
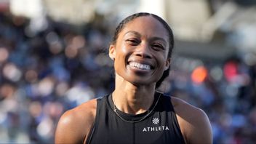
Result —
[[[152,54],[151,54],[151,49],[150,49],[149,45],[148,44],[140,44],[136,48],[135,55],[137,55],[139,57],[143,57],[143,58],[151,58]]]

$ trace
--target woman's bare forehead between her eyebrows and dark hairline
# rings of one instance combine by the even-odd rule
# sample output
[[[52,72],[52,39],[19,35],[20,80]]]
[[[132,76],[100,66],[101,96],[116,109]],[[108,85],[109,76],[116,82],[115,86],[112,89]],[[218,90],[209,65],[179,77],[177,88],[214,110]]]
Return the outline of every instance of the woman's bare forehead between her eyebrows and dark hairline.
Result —
[[[124,25],[121,33],[126,33],[127,31],[136,31],[146,36],[161,37],[162,39],[166,40],[168,40],[169,37],[167,29],[164,28],[164,25],[152,16],[136,17],[135,19],[129,21],[126,25]]]

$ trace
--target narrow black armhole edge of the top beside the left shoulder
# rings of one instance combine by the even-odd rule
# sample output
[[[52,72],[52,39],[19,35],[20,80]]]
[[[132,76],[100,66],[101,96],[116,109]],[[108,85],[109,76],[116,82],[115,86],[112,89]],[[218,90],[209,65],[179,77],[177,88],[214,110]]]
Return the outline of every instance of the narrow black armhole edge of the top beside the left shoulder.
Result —
[[[95,121],[93,122],[92,127],[91,127],[91,129],[89,130],[87,140],[85,140],[85,143],[87,143],[87,144],[91,143],[92,136],[93,136],[93,134],[94,134],[94,132],[95,132],[95,127],[97,127],[97,125],[96,125],[97,122],[98,122],[98,118],[97,118],[97,117],[98,117],[98,113],[99,113],[99,111],[100,111],[100,108],[98,108],[98,105],[100,105],[100,102],[101,102],[101,98],[98,98],[98,99],[97,99],[97,103],[96,103]],[[85,139],[85,137],[84,137],[84,139]]]

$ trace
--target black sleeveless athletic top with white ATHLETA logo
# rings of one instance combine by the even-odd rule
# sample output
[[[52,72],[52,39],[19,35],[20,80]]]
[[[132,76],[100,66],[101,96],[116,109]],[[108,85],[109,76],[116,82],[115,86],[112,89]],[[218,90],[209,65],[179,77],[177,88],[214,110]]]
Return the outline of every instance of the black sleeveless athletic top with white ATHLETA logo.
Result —
[[[151,108],[134,115],[116,114],[112,95],[98,98],[86,143],[185,143],[170,99],[156,92]]]

